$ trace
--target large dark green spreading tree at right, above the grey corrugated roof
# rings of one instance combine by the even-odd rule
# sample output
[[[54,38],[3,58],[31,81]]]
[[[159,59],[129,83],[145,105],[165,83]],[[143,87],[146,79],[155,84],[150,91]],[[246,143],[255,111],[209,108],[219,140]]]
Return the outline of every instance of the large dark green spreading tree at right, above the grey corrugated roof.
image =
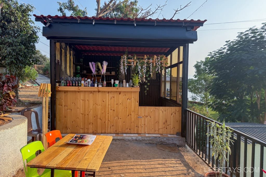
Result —
[[[210,94],[219,119],[231,122],[266,120],[266,23],[238,33],[210,53]],[[264,98],[264,99],[263,99]]]

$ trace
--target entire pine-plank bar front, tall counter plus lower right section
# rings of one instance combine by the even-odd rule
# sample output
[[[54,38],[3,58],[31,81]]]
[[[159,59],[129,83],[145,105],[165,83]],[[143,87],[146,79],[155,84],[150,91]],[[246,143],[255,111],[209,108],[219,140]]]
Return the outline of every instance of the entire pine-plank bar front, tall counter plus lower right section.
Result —
[[[56,87],[62,133],[181,132],[181,107],[139,106],[139,88]]]

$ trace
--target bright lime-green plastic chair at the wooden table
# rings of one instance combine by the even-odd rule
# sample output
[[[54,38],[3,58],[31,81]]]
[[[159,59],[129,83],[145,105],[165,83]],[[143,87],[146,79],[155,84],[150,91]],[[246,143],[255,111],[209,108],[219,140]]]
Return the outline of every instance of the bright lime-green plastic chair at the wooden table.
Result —
[[[35,154],[36,154],[36,151],[38,150],[41,150],[41,152],[44,151],[44,147],[41,141],[31,142],[20,149],[20,152],[23,158],[23,165],[24,165],[24,171],[25,171],[26,177],[51,176],[51,169],[45,169],[44,172],[41,175],[39,175],[37,173],[36,168],[30,168],[30,167],[26,168],[25,159],[27,163],[30,162],[32,159],[36,157]],[[71,171],[70,170],[55,170],[55,177],[71,177]]]

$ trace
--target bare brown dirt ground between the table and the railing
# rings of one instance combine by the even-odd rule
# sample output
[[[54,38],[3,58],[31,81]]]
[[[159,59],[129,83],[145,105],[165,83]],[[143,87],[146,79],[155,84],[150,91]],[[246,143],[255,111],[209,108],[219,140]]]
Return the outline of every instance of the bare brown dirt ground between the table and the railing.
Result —
[[[156,144],[113,140],[96,176],[203,176],[208,169],[188,146],[176,152],[157,149]],[[15,175],[23,176],[23,171]]]

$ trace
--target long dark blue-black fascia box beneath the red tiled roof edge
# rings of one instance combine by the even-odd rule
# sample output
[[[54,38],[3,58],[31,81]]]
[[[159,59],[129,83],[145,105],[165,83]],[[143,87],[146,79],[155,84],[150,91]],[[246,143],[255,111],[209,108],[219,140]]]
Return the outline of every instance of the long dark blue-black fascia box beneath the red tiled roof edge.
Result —
[[[94,41],[99,44],[134,44],[140,46],[178,46],[197,41],[197,32],[189,27],[129,26],[86,23],[51,23],[43,27],[43,36],[53,40]]]

